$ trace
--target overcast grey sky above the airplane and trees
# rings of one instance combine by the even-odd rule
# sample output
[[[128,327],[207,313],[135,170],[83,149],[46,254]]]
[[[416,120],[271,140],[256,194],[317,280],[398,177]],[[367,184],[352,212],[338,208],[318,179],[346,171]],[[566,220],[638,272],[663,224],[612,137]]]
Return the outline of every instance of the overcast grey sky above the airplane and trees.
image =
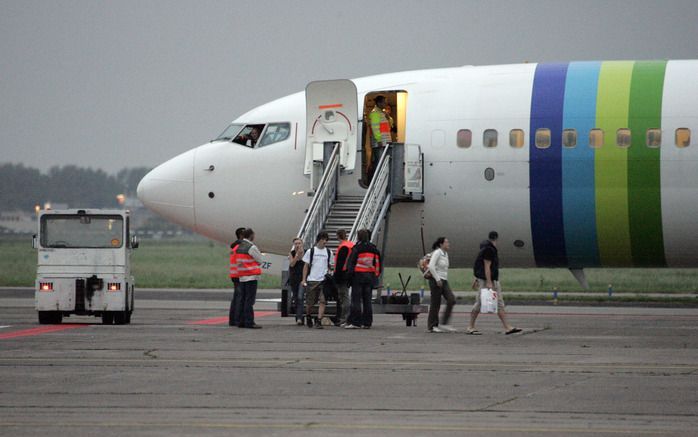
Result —
[[[42,170],[155,166],[316,79],[698,58],[695,0],[0,0],[0,11],[0,163]]]

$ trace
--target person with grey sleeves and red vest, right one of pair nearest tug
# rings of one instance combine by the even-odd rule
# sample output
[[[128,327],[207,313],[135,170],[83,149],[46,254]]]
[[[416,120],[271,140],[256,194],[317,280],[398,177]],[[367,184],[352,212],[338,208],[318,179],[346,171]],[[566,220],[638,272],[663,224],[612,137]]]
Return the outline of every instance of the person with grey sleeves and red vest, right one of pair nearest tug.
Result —
[[[242,316],[238,326],[259,329],[261,326],[254,322],[254,303],[257,299],[257,281],[262,276],[262,254],[253,243],[254,231],[252,229],[245,229],[242,237],[243,240],[235,251],[242,301]]]

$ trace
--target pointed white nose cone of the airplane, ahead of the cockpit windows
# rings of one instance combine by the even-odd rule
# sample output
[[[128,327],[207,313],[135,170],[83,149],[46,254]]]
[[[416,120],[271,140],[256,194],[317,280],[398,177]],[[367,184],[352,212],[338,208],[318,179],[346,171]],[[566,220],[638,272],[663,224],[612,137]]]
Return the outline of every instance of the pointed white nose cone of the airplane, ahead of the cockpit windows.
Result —
[[[193,228],[194,155],[190,150],[160,164],[141,179],[138,199],[148,209],[179,225]]]

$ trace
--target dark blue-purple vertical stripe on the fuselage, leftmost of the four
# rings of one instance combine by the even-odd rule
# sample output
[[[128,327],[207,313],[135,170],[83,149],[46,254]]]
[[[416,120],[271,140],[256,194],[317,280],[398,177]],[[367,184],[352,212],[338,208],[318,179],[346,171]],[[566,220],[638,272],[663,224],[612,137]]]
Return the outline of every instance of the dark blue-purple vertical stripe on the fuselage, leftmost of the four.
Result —
[[[538,266],[567,265],[562,208],[562,114],[568,64],[538,64],[533,80],[530,130],[530,205],[533,253]],[[536,131],[550,129],[550,147],[536,146]]]

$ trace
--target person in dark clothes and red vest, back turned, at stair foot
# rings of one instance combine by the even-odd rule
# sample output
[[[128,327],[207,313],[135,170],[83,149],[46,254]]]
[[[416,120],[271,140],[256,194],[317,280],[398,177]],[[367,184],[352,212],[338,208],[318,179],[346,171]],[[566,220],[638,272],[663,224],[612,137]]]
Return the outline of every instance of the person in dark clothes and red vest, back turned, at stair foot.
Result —
[[[349,255],[347,272],[351,278],[351,314],[345,329],[371,329],[373,324],[371,296],[383,266],[380,252],[371,243],[370,235],[368,229],[361,229],[359,242]]]

